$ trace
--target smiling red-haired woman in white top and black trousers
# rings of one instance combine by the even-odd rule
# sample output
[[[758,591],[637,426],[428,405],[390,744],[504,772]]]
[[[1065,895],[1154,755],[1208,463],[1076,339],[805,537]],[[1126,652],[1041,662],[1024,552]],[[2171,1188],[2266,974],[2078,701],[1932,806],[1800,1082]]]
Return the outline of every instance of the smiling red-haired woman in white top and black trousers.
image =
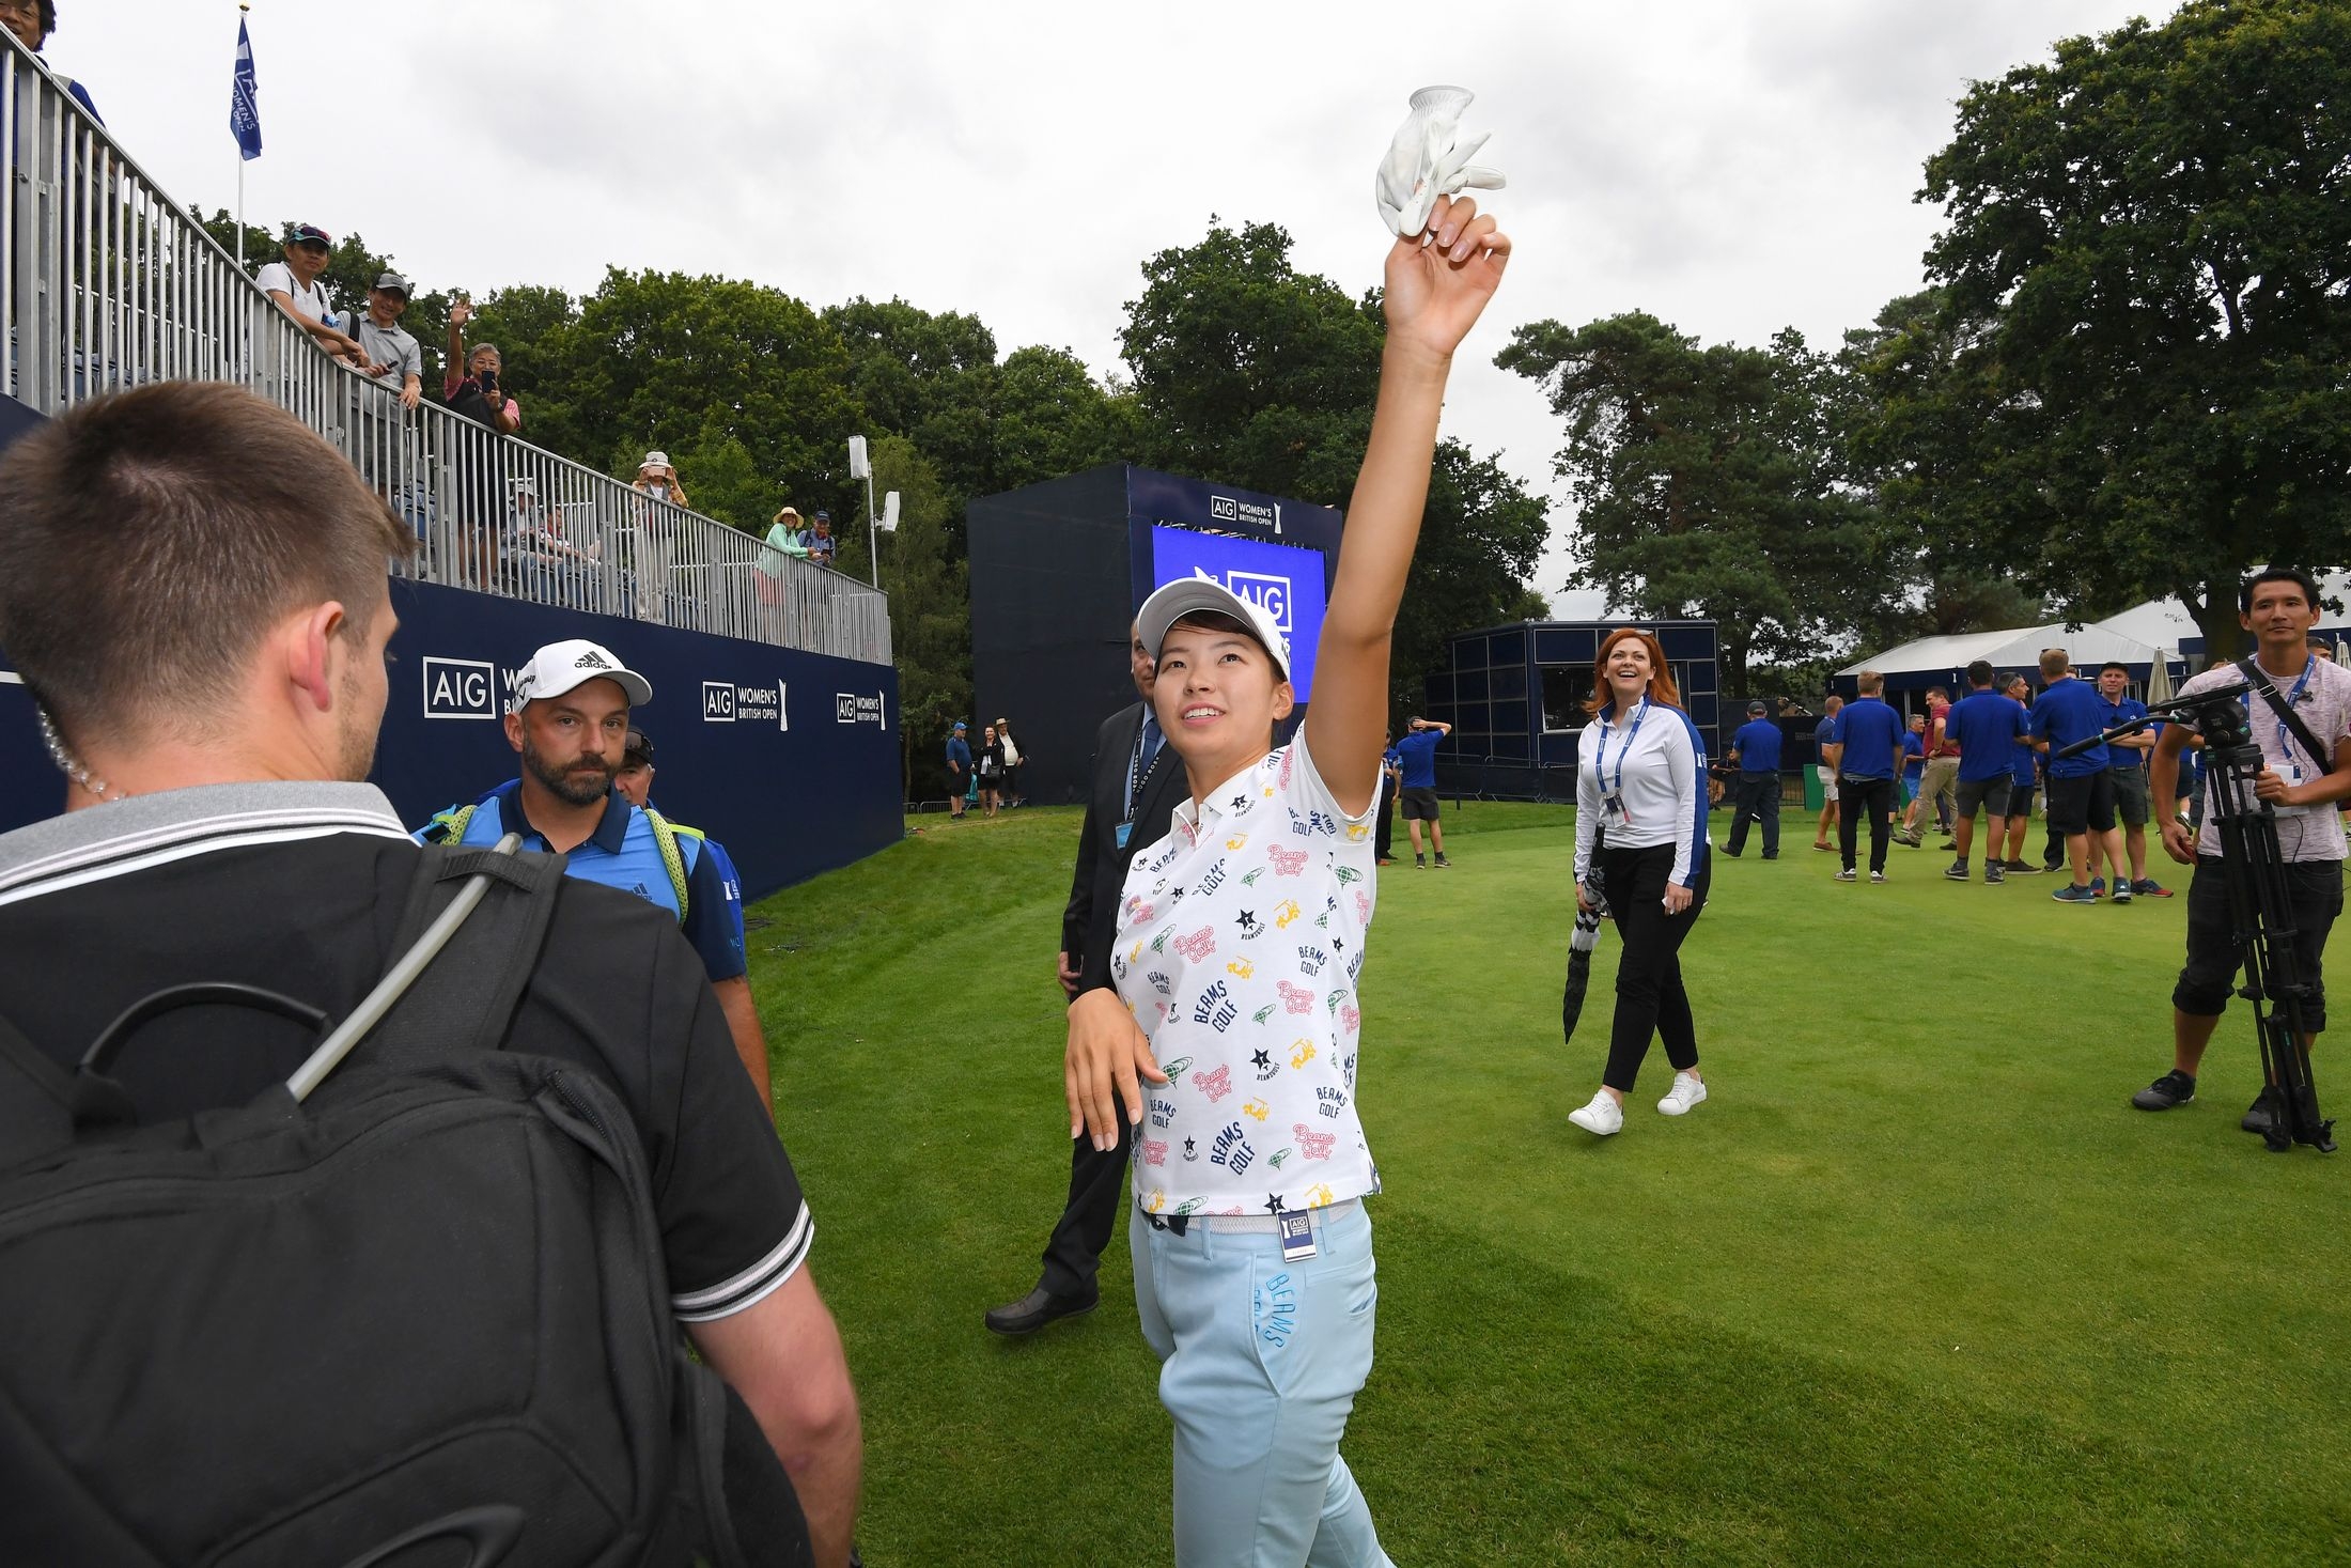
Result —
[[[1575,762],[1575,905],[1606,898],[1622,950],[1608,1070],[1568,1121],[1606,1138],[1625,1126],[1650,1034],[1665,1037],[1674,1063],[1657,1110],[1679,1117],[1707,1098],[1681,987],[1681,940],[1707,903],[1707,743],[1681,710],[1665,649],[1629,625],[1601,642],[1587,710]]]

